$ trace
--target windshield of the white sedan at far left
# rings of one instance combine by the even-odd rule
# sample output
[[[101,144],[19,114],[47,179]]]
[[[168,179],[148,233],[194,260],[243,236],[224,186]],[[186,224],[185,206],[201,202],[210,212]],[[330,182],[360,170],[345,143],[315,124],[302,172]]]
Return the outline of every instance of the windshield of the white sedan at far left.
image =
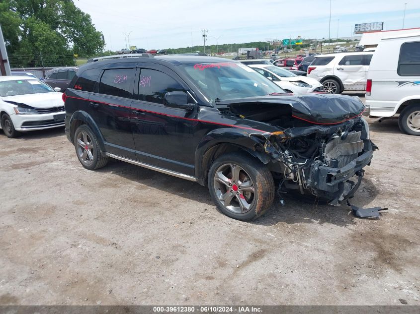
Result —
[[[1,97],[51,92],[55,92],[55,90],[35,79],[0,82]]]

